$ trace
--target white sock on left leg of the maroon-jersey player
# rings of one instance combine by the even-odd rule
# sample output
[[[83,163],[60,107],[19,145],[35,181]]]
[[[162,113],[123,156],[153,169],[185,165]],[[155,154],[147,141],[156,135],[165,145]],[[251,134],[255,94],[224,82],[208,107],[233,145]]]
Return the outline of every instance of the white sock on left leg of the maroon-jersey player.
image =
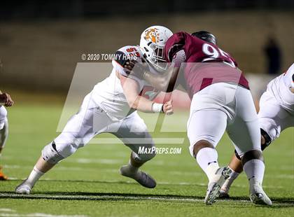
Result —
[[[196,160],[201,169],[207,174],[209,182],[214,176],[218,166],[218,152],[215,148],[202,148],[198,151]]]

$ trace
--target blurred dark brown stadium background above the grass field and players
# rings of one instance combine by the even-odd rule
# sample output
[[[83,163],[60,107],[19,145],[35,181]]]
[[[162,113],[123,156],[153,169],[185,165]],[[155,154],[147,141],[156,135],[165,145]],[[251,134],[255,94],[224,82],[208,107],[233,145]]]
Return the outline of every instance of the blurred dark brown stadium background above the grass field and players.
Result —
[[[0,7],[1,88],[69,90],[83,53],[113,53],[141,31],[205,29],[245,73],[267,73],[265,44],[275,38],[281,69],[294,59],[294,1],[5,1]],[[109,71],[99,71],[105,78]]]

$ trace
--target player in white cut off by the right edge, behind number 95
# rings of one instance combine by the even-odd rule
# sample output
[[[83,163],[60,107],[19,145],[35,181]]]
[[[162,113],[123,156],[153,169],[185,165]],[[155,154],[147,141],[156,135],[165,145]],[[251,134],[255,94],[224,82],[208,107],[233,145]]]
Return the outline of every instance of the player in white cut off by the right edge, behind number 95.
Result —
[[[277,139],[288,127],[294,127],[294,64],[280,76],[271,80],[260,98],[258,113],[261,131],[261,149]],[[239,156],[233,155],[229,167],[233,170],[223,184],[220,197],[228,195],[232,182],[242,172]]]

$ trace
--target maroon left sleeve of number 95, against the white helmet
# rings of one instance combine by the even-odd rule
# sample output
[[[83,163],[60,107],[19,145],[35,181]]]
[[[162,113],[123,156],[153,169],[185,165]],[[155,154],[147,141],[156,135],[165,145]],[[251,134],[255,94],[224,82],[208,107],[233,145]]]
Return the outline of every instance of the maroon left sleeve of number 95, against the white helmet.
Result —
[[[180,31],[178,33],[173,34],[167,40],[165,44],[165,60],[167,62],[172,62],[174,55],[179,50],[183,50],[183,46],[185,45],[186,33]]]

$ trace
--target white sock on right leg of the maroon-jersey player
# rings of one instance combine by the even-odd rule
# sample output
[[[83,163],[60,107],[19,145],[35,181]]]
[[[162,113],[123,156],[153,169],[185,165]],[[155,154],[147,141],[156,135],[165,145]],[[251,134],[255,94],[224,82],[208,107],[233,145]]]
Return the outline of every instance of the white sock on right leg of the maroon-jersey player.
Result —
[[[245,163],[243,169],[246,173],[248,180],[255,178],[255,180],[257,180],[260,183],[260,185],[262,184],[263,175],[265,173],[265,164],[264,162],[262,162],[262,160],[249,160]]]

